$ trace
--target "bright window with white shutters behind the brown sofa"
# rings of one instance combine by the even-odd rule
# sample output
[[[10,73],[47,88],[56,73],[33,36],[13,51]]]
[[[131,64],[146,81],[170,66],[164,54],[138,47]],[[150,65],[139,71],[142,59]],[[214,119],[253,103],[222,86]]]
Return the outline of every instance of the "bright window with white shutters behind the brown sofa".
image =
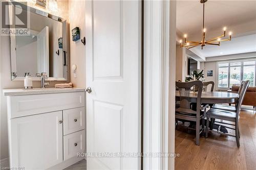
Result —
[[[255,86],[256,59],[217,62],[218,89],[229,89],[249,80],[249,86]]]

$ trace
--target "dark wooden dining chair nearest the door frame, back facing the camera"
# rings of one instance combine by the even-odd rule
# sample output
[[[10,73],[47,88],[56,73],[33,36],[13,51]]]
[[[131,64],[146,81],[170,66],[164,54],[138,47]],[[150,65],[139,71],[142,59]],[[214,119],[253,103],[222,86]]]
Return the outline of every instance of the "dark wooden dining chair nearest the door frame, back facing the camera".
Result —
[[[198,92],[193,93],[191,87],[197,86]],[[196,129],[191,127],[185,127],[188,129],[196,130],[196,144],[199,145],[200,133],[204,132],[204,118],[206,116],[206,107],[201,106],[201,95],[203,83],[201,81],[191,81],[191,82],[176,82],[176,87],[179,89],[180,93],[180,106],[175,109],[176,120],[181,120],[182,122],[195,122]],[[191,106],[191,96],[197,98],[196,109]],[[196,95],[196,96],[195,96]],[[203,112],[201,110],[204,110]],[[202,121],[201,121],[202,120]],[[202,122],[202,129],[200,131],[200,122]]]

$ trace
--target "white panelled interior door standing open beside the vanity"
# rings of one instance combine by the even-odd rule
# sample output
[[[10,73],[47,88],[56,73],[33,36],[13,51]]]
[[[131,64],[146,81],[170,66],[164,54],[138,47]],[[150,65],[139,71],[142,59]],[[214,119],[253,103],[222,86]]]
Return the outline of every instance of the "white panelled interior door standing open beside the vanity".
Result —
[[[87,169],[139,169],[141,2],[86,1]],[[110,155],[109,155],[110,156]]]

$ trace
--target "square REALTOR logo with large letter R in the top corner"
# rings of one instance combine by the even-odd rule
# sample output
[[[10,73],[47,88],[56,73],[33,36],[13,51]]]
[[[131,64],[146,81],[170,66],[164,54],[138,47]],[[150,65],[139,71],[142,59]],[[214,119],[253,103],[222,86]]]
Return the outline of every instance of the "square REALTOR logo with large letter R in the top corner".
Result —
[[[27,2],[1,2],[1,36],[28,35],[30,14]]]

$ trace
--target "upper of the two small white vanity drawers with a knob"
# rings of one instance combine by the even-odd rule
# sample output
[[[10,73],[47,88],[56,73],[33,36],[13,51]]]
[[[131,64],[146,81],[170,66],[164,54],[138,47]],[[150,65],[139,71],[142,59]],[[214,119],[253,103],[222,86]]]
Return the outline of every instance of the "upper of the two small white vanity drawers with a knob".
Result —
[[[84,107],[63,110],[63,134],[67,135],[85,129],[86,110]]]

